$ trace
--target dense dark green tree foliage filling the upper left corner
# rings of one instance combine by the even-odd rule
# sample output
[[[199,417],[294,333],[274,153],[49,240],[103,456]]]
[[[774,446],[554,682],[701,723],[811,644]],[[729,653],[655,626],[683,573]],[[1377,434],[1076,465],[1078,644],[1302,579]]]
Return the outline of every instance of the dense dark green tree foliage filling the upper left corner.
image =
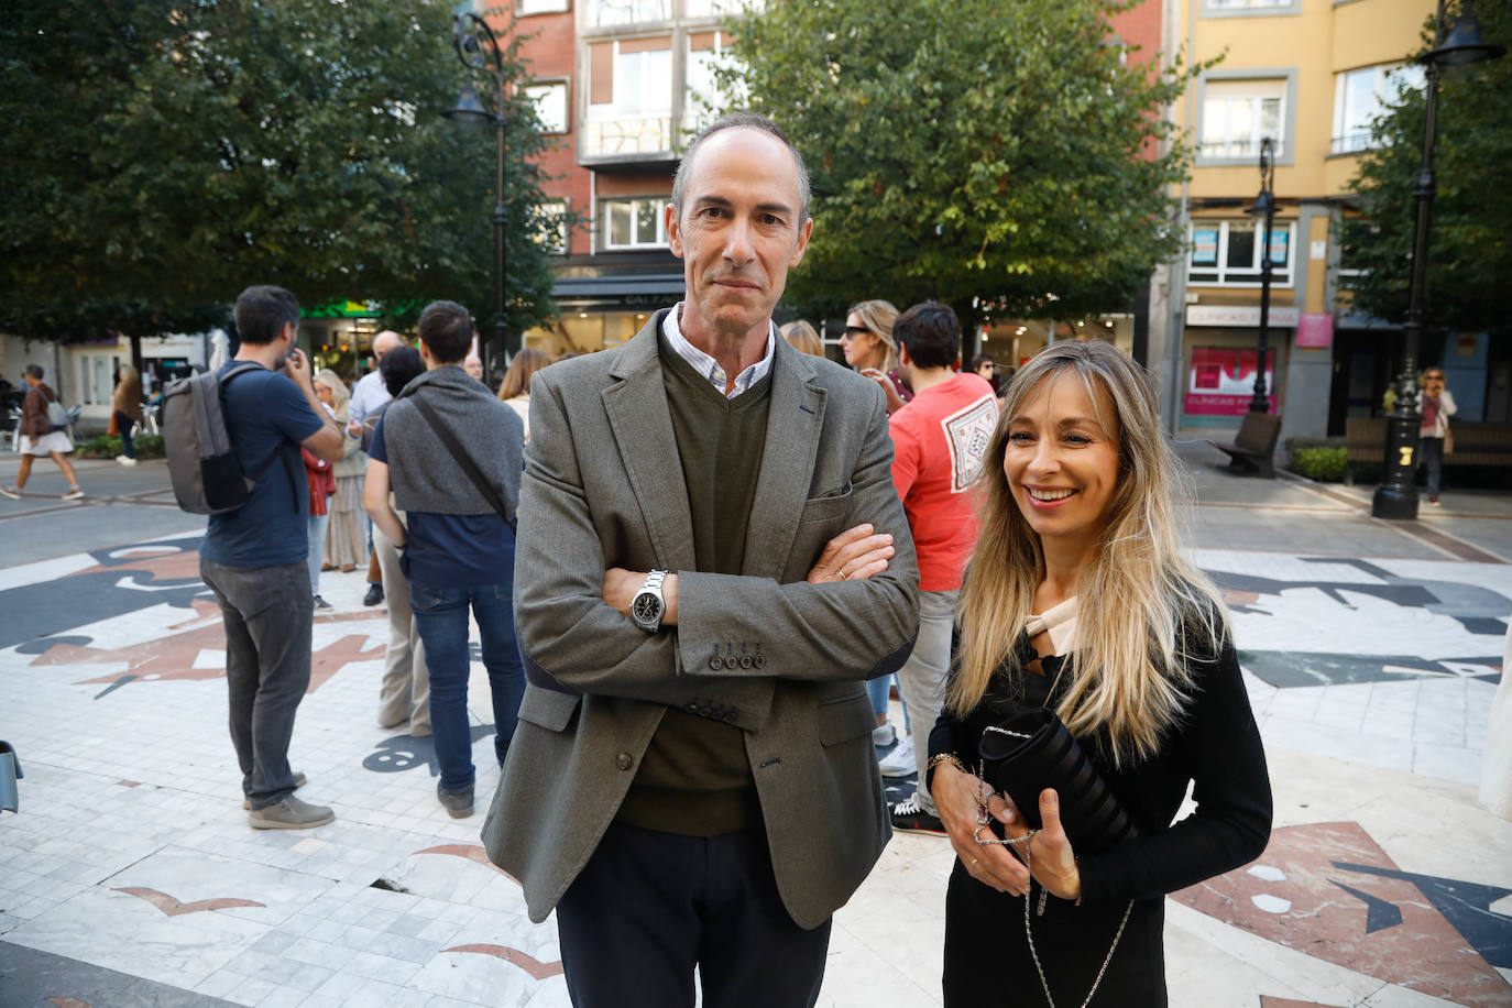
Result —
[[[251,283],[491,314],[494,133],[440,118],[466,76],[443,0],[17,0],[0,66],[5,331],[198,328]],[[550,313],[541,141],[507,116],[523,328]]]

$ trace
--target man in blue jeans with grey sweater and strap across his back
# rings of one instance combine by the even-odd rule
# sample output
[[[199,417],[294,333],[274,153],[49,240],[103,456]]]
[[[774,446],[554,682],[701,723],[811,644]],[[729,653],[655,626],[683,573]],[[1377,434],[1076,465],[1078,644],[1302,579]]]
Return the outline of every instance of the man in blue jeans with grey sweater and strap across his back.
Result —
[[[363,503],[373,524],[401,549],[431,677],[431,731],[442,768],[435,795],[461,819],[473,812],[475,781],[467,719],[469,612],[482,636],[500,765],[525,694],[514,636],[514,506],[525,426],[514,410],[461,369],[472,345],[466,308],[451,301],[428,305],[419,334],[426,372],[404,387],[373,428]],[[470,461],[472,473],[454,450]],[[396,506],[405,512],[404,523]]]

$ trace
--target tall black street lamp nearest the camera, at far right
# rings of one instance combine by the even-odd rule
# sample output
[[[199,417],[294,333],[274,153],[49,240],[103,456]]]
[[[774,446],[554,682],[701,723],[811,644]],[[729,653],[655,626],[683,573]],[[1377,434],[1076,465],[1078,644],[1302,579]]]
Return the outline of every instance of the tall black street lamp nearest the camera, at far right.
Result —
[[[1474,0],[1464,0],[1459,20],[1444,38],[1444,0],[1438,0],[1433,21],[1435,48],[1423,56],[1427,71],[1427,103],[1423,110],[1423,163],[1418,168],[1412,195],[1417,219],[1412,224],[1412,280],[1408,287],[1408,320],[1403,325],[1406,346],[1402,352],[1400,394],[1387,425],[1387,453],[1380,485],[1370,502],[1370,514],[1377,518],[1417,518],[1417,449],[1423,417],[1417,397],[1417,355],[1423,334],[1423,287],[1427,281],[1427,236],[1433,222],[1433,139],[1438,119],[1438,79],[1444,66],[1464,66],[1506,53],[1504,45],[1491,45],[1480,38]]]

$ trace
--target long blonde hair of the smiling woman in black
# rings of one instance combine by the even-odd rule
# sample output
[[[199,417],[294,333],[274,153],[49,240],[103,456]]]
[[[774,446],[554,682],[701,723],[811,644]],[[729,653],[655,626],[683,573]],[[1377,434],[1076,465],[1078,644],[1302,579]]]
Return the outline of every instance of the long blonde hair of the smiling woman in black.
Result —
[[[1181,718],[1191,686],[1187,659],[1216,653],[1228,620],[1217,588],[1181,555],[1190,484],[1160,429],[1152,384],[1111,343],[1052,343],[1007,388],[977,482],[981,529],[960,595],[960,663],[948,703],[968,713],[999,669],[1013,686],[1022,683],[1015,642],[1034,612],[1045,555],[1002,461],[1013,417],[1061,375],[1086,385],[1098,423],[1116,438],[1119,478],[1099,547],[1081,571],[1077,641],[1057,713],[1072,734],[1101,736],[1122,765],[1154,754]],[[1108,405],[1113,416],[1104,416]]]

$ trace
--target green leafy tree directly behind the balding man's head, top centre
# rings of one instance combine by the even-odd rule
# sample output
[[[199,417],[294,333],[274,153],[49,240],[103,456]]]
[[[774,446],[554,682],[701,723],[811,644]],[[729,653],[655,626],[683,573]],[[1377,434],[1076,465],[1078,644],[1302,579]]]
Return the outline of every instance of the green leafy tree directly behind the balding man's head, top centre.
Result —
[[[789,302],[885,296],[984,314],[1126,310],[1172,257],[1185,71],[1125,65],[1116,0],[768,0],[729,92],[809,162],[813,242]]]

